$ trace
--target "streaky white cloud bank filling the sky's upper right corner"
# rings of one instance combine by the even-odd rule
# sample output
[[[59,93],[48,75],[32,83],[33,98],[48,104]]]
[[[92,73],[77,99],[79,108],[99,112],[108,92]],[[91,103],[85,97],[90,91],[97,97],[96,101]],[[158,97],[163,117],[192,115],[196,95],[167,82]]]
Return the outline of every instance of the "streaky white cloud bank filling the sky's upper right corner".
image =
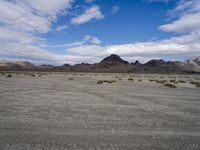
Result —
[[[169,14],[178,15],[178,19],[162,25],[159,29],[166,32],[191,33],[200,30],[200,0],[181,0]]]

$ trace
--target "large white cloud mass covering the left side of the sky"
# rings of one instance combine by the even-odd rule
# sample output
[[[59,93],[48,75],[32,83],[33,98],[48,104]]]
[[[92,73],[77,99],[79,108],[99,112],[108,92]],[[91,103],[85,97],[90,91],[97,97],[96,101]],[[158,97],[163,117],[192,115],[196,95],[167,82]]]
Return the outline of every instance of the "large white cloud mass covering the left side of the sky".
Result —
[[[0,1],[0,59],[62,62],[62,55],[41,49],[57,15],[70,8],[73,0]]]

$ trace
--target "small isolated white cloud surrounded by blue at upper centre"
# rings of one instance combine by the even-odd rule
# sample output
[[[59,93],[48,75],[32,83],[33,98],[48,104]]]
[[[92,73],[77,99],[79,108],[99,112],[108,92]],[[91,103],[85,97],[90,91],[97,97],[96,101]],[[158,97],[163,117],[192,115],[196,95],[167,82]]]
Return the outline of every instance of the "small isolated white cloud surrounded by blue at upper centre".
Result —
[[[85,12],[75,18],[72,18],[71,23],[72,24],[83,24],[86,22],[89,22],[91,20],[100,20],[103,19],[104,15],[100,11],[99,6],[92,6],[85,10]]]

